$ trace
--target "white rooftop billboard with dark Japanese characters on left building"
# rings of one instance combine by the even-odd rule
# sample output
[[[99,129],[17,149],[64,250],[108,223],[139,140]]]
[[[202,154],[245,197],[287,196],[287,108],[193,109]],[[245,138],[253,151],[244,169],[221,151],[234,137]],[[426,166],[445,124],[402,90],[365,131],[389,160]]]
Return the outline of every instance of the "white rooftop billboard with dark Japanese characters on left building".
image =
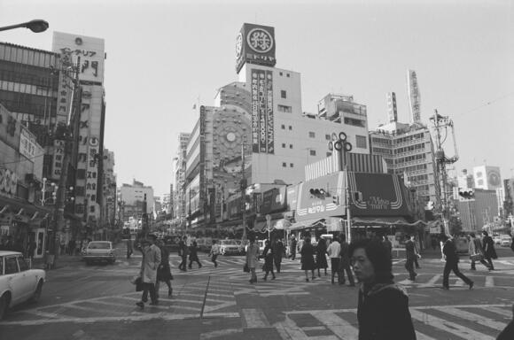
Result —
[[[71,55],[74,64],[80,58],[81,81],[104,82],[104,39],[54,32],[51,50],[61,55]]]

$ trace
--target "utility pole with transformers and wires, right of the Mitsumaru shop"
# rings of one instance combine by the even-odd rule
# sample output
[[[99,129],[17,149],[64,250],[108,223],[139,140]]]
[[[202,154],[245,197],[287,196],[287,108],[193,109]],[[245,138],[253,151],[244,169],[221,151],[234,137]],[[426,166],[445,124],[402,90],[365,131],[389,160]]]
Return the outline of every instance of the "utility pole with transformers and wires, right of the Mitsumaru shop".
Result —
[[[453,121],[448,118],[448,116],[441,116],[437,110],[434,110],[433,116],[430,118],[432,120],[433,124],[433,131],[435,132],[435,161],[437,163],[437,170],[439,174],[439,180],[440,180],[440,213],[441,213],[441,220],[443,222],[443,225],[446,227],[448,224],[449,219],[449,211],[448,211],[448,173],[447,173],[447,165],[453,164],[458,160],[457,155],[457,147],[456,147],[456,138],[455,138],[455,130],[454,130],[454,124]],[[441,142],[441,130],[444,129],[448,132],[448,128],[451,128],[452,137],[454,140],[454,149],[456,152],[456,155],[453,157],[448,158],[445,155],[445,152],[442,148]],[[446,137],[445,137],[446,140]],[[448,227],[449,228],[449,227]],[[446,230],[445,230],[446,232]]]

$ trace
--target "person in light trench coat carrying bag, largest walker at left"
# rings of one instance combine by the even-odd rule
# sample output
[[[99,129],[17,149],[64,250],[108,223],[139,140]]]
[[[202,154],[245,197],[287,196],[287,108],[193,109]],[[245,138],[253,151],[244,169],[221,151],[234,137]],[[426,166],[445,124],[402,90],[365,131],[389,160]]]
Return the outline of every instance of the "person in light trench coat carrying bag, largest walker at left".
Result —
[[[157,269],[160,266],[160,249],[154,244],[156,237],[150,235],[147,240],[141,242],[143,251],[143,260],[141,261],[141,280],[143,282],[143,295],[141,301],[137,302],[141,308],[148,301],[148,292],[150,292],[150,305],[158,305],[159,301],[155,291],[155,283],[157,282]]]

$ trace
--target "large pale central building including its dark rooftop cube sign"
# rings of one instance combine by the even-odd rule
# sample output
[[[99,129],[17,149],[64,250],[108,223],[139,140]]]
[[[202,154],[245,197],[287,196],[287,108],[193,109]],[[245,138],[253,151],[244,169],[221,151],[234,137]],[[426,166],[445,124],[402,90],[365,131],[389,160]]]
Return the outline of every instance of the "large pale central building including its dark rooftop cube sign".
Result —
[[[191,228],[241,228],[243,206],[251,205],[238,203],[241,190],[304,181],[308,164],[331,155],[332,133],[345,132],[352,152],[370,153],[366,106],[329,94],[318,112],[303,112],[300,73],[275,67],[275,49],[273,27],[244,24],[236,42],[238,81],[223,86],[214,105],[199,107],[182,189],[176,182]],[[175,171],[180,166],[176,158]]]

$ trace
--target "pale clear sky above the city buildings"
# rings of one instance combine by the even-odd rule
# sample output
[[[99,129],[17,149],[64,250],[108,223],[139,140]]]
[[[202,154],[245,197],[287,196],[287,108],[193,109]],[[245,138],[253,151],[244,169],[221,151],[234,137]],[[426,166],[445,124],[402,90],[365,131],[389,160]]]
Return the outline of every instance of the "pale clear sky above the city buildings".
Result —
[[[514,2],[1,0],[0,26],[45,19],[48,31],[0,41],[51,50],[52,32],[105,39],[105,148],[118,185],[169,192],[178,135],[199,104],[237,81],[235,42],[245,22],[275,27],[276,67],[301,73],[302,111],[328,93],[368,106],[386,123],[387,92],[409,122],[407,70],[417,72],[422,120],[437,109],[456,128],[454,172],[500,166],[514,176]],[[193,110],[197,104],[197,110]],[[443,144],[456,155],[453,140]]]

